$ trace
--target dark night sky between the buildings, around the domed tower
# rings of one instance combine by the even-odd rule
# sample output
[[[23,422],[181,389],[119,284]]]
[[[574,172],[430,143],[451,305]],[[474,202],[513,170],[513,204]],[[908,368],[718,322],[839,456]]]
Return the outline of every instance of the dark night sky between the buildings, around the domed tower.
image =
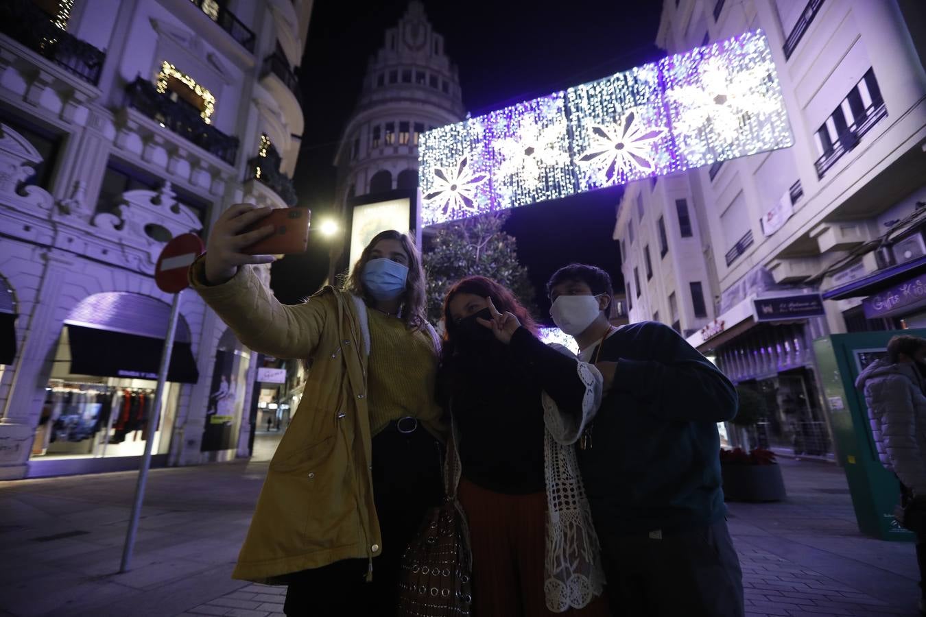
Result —
[[[621,6],[623,5],[623,6]],[[354,109],[369,56],[384,32],[404,14],[407,0],[382,0],[366,12],[357,3],[316,0],[306,55],[299,71],[306,130],[294,174],[299,205],[313,220],[331,212],[334,151]],[[658,59],[653,41],[662,2],[568,3],[425,0],[425,13],[444,35],[445,51],[459,69],[463,102],[473,115]],[[620,189],[517,208],[506,230],[518,239],[521,264],[537,288],[547,317],[544,283],[559,265],[582,261],[604,267],[622,285],[619,250],[611,240]],[[273,266],[273,289],[282,302],[318,290],[328,267],[327,246]]]

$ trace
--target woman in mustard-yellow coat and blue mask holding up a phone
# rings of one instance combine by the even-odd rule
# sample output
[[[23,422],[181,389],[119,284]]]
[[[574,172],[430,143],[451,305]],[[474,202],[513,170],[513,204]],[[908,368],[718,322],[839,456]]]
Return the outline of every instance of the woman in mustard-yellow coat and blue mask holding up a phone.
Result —
[[[344,289],[278,302],[244,250],[268,208],[219,216],[192,286],[252,350],[311,361],[269,464],[233,576],[288,585],[287,615],[394,615],[400,559],[444,494],[439,340],[424,317],[421,259],[406,234],[369,242]],[[244,232],[244,233],[243,233]]]

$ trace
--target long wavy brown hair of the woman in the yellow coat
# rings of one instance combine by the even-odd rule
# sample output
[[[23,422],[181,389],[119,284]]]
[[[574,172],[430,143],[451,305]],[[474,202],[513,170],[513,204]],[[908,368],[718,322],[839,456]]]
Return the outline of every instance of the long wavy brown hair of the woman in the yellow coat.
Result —
[[[363,284],[363,268],[370,260],[369,253],[379,241],[397,240],[402,244],[402,249],[408,255],[408,278],[406,279],[406,289],[402,292],[402,321],[406,326],[420,330],[427,323],[425,319],[425,304],[427,295],[425,292],[424,267],[421,265],[421,253],[416,246],[414,239],[406,233],[388,229],[381,231],[369,241],[360,253],[360,258],[351,269],[350,274],[344,279],[345,291],[349,291],[356,296],[363,298],[368,305],[373,305],[376,300],[369,294],[369,290]]]

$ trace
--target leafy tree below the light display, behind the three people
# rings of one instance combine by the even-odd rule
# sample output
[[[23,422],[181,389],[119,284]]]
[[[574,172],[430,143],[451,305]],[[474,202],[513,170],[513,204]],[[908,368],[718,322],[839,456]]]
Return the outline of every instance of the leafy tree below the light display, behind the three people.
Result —
[[[454,221],[425,242],[428,319],[433,324],[441,320],[446,291],[470,275],[498,281],[533,313],[534,289],[527,268],[518,262],[517,241],[502,230],[506,219],[506,213],[497,213]]]

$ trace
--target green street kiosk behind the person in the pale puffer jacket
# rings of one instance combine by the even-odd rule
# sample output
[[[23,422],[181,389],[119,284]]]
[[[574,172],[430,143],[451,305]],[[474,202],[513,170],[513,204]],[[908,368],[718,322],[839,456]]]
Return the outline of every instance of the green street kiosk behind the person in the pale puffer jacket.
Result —
[[[926,338],[926,329],[833,334],[815,340],[813,346],[836,454],[845,469],[858,528],[871,537],[910,542],[916,538],[894,518],[897,479],[878,459],[865,396],[856,388],[859,373],[886,354],[887,341],[897,334]]]

